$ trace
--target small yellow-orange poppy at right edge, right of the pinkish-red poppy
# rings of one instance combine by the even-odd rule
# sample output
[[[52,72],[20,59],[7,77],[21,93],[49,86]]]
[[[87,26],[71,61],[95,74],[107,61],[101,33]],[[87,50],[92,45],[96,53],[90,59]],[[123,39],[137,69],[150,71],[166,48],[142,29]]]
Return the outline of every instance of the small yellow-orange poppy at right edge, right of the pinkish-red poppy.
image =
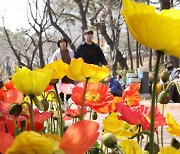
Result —
[[[173,136],[180,136],[180,125],[174,120],[171,114],[166,115],[166,122],[168,124],[167,131]]]

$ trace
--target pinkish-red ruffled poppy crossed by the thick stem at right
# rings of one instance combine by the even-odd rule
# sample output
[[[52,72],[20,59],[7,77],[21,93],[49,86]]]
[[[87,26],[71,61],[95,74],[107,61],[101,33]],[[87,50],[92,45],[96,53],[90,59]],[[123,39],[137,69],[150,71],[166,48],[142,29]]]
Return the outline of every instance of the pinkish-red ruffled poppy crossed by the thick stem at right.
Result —
[[[117,111],[120,112],[120,120],[125,120],[131,125],[140,124],[144,130],[150,129],[150,108],[144,105],[139,105],[136,107],[129,107],[125,104],[116,104]],[[162,114],[159,112],[158,108],[155,109],[155,126],[165,125],[166,121]]]

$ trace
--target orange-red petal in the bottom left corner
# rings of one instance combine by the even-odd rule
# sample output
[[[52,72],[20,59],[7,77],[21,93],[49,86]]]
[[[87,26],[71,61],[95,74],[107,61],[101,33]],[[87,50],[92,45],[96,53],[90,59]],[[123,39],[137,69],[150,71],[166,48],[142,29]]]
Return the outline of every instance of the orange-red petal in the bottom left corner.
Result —
[[[6,150],[13,144],[14,137],[8,133],[0,132],[0,153],[5,154]]]

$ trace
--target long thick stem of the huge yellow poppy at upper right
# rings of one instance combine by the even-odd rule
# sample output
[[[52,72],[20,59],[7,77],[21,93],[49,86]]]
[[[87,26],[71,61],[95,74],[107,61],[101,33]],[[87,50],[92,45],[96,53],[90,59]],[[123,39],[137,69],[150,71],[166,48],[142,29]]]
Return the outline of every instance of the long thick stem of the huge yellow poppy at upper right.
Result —
[[[155,100],[156,100],[156,85],[158,79],[158,71],[161,56],[163,55],[162,51],[157,51],[157,61],[155,67],[154,83],[153,83],[153,92],[152,92],[152,103],[151,103],[151,129],[150,129],[150,154],[154,154],[154,110],[155,110]]]

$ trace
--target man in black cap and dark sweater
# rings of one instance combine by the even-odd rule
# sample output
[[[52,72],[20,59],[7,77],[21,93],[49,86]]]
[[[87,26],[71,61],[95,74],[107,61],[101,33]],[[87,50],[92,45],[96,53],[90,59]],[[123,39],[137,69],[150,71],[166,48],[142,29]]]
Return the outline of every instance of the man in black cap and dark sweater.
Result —
[[[84,31],[85,41],[82,42],[75,51],[74,58],[82,58],[85,63],[94,65],[108,65],[106,58],[101,50],[101,48],[95,44],[93,39],[93,31]]]

